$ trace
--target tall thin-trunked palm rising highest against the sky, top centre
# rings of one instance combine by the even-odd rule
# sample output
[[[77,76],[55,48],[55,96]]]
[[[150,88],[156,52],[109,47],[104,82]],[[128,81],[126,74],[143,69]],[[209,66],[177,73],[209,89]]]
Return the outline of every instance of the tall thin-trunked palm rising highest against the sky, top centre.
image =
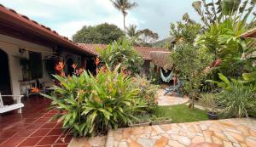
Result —
[[[130,3],[129,0],[110,0],[113,6],[122,12],[124,16],[124,31],[125,31],[125,16],[128,14],[127,10],[137,7],[137,3]],[[126,31],[125,31],[126,32]]]

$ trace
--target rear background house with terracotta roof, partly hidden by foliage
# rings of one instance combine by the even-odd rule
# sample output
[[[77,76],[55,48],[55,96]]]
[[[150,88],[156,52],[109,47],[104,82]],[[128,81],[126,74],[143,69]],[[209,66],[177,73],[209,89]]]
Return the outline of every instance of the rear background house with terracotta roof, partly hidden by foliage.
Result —
[[[100,54],[96,51],[96,48],[106,48],[106,44],[89,44],[89,43],[79,43],[79,47],[86,48],[90,52],[99,56]],[[134,47],[139,54],[143,56],[144,63],[141,73],[148,74],[150,69],[150,62],[152,61],[150,53],[152,52],[168,52],[166,48],[151,48],[151,47]]]

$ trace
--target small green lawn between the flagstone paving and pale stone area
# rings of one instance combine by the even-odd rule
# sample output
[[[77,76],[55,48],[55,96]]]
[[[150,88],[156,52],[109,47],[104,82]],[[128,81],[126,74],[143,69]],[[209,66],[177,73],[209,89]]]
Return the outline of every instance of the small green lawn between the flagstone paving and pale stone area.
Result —
[[[170,118],[172,123],[197,122],[208,119],[205,110],[189,109],[188,105],[160,106],[151,115]]]

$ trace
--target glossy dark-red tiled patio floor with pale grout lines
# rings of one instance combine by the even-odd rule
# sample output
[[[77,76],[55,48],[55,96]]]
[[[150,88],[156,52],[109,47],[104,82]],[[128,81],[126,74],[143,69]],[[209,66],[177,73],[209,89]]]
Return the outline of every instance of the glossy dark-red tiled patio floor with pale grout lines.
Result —
[[[23,98],[22,114],[12,111],[0,115],[0,147],[64,147],[72,139],[61,129],[60,122],[51,122],[55,110],[47,110],[49,99]],[[66,136],[66,138],[65,138]]]

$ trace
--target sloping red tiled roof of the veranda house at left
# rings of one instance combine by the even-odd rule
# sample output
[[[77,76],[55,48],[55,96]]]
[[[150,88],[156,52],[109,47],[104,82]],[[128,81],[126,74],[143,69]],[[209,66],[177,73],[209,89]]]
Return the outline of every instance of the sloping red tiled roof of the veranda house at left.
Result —
[[[63,37],[58,34],[56,31],[51,30],[45,25],[39,24],[37,21],[29,19],[26,15],[18,14],[14,9],[6,8],[0,4],[0,20],[6,22],[10,25],[15,25],[24,28],[22,31],[31,31],[35,34],[40,35],[49,39],[49,41],[64,46],[66,48],[71,48],[86,54],[95,55],[90,50],[79,46],[77,43],[69,40],[67,37]]]

